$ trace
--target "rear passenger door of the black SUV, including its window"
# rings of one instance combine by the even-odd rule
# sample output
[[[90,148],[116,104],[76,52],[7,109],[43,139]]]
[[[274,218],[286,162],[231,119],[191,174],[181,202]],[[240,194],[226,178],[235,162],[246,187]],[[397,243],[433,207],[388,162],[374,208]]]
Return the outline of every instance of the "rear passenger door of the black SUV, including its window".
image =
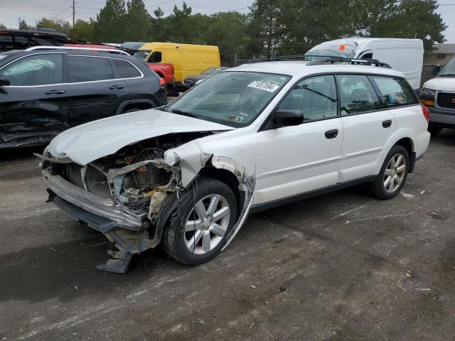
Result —
[[[109,58],[68,55],[67,65],[71,126],[113,116],[129,100],[127,85]]]

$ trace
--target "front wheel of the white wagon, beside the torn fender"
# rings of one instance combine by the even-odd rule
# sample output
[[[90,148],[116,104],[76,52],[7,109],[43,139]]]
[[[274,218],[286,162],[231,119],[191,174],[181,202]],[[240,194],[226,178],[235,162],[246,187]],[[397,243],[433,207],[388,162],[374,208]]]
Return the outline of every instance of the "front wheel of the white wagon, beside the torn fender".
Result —
[[[203,264],[220,253],[236,219],[237,200],[228,185],[198,178],[166,226],[166,252],[183,264]]]

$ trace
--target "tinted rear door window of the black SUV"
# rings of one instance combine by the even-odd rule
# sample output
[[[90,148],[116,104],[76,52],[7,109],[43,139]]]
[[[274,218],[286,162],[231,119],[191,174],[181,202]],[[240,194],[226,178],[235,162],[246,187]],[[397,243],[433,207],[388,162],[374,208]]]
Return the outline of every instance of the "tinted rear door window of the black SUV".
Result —
[[[114,78],[109,60],[98,57],[68,55],[68,73],[71,83]]]

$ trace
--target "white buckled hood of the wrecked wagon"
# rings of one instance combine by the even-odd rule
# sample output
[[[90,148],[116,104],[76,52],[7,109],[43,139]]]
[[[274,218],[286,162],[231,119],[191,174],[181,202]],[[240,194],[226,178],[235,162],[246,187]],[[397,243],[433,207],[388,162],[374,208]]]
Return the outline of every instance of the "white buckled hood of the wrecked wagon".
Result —
[[[122,114],[92,121],[63,131],[50,142],[56,158],[87,163],[115,153],[138,141],[171,133],[232,130],[232,126],[195,119],[157,109]]]

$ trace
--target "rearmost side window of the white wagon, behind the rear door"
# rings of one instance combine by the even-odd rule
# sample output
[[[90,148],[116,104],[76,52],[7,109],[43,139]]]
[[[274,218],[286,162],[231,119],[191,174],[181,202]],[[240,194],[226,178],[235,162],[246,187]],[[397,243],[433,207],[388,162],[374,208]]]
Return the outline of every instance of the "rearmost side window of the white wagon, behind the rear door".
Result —
[[[370,76],[380,92],[380,102],[385,107],[416,104],[414,90],[402,78]]]

